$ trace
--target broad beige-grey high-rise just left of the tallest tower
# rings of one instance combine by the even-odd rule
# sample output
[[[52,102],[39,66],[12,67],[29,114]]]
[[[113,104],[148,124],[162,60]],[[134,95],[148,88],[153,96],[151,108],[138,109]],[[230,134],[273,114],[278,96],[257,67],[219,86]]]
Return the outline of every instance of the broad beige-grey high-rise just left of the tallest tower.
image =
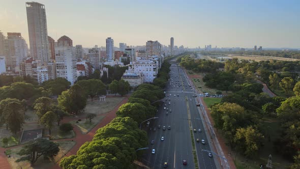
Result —
[[[5,39],[6,70],[9,72],[19,72],[19,65],[27,58],[27,44],[21,33],[7,33]]]

